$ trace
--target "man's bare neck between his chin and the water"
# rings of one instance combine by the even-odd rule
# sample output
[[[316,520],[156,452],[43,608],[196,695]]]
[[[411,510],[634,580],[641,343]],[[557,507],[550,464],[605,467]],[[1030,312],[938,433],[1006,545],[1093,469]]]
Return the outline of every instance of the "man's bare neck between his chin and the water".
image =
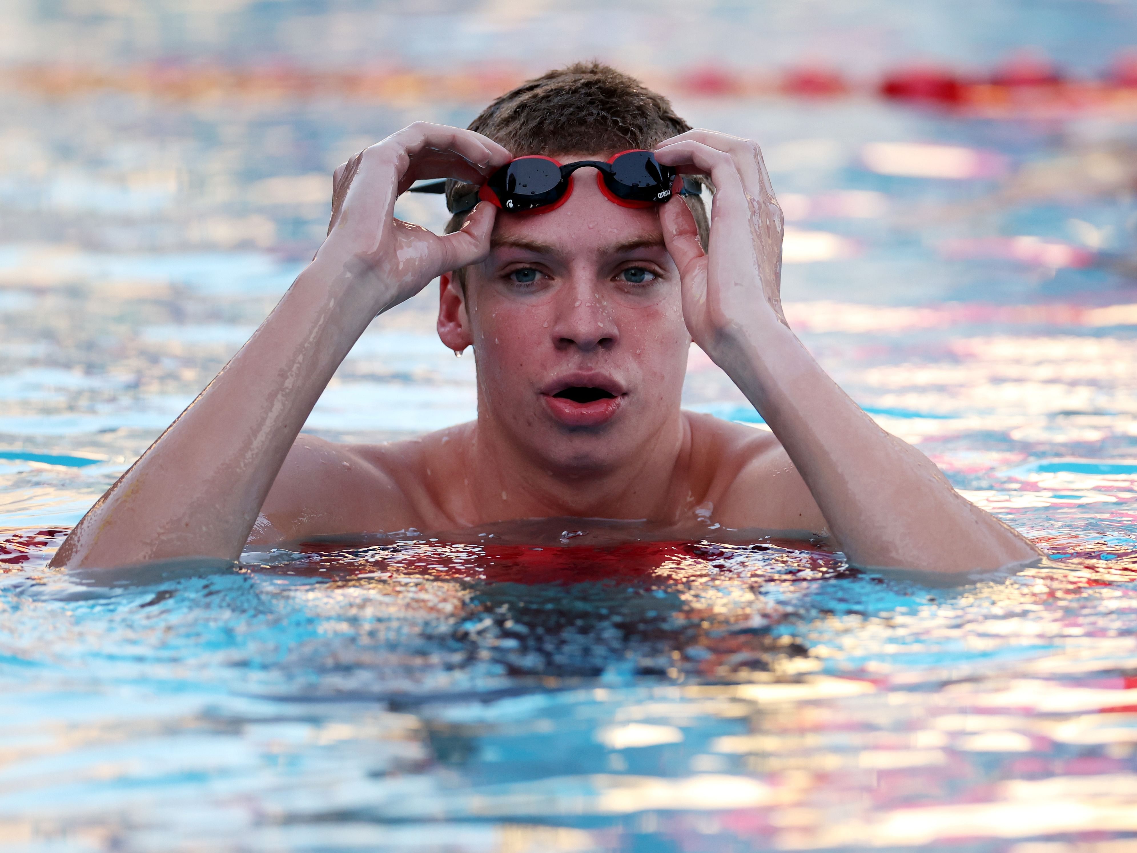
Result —
[[[553,516],[670,522],[686,497],[691,432],[678,406],[631,454],[608,463],[555,465],[526,453],[484,406],[467,436],[471,517],[479,523]]]

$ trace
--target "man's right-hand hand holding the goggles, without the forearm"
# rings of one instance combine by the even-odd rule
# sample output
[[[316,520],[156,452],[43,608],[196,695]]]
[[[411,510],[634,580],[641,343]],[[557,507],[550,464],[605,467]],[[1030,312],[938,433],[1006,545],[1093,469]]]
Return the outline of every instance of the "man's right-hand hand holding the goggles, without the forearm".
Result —
[[[695,130],[661,142],[656,159],[715,187],[709,255],[678,197],[659,208],[663,238],[683,288],[683,318],[712,358],[762,318],[786,323],[781,307],[782,212],[756,142]]]

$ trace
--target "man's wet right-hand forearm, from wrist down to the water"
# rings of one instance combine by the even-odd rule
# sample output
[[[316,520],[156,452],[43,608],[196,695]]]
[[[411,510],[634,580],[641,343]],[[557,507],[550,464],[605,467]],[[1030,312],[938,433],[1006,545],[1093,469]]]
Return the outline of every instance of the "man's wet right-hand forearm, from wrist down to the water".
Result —
[[[964,571],[1038,555],[878,426],[772,312],[731,336],[715,361],[781,441],[853,564]]]

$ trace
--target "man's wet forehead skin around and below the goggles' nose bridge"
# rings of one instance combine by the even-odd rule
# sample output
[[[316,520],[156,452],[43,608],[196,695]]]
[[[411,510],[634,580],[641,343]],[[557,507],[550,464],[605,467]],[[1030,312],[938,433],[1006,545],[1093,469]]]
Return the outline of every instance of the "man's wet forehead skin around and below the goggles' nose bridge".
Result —
[[[561,163],[607,160],[611,155],[556,155]],[[600,192],[595,168],[580,168],[572,176],[572,192],[561,207],[543,214],[498,212],[493,240],[539,242],[559,254],[579,255],[629,240],[658,240],[663,229],[655,207],[621,207]]]

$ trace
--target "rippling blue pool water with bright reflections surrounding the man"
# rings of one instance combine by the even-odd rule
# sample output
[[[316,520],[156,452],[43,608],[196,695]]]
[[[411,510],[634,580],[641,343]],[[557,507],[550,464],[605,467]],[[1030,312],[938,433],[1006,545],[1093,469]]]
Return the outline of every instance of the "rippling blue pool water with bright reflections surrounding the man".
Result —
[[[331,171],[482,106],[226,94],[216,68],[379,45],[422,72],[453,41],[453,71],[508,42],[526,71],[598,55],[672,80],[653,33],[681,31],[689,68],[824,56],[866,80],[915,53],[977,73],[1038,44],[1087,75],[1137,41],[1137,7],[214,6],[5,13],[3,68],[174,68],[199,88],[0,75],[0,850],[1137,848],[1128,101],[990,117],[865,86],[675,98],[763,144],[794,329],[1038,543],[1036,568],[952,583],[761,532],[562,519],[45,569],[312,256]],[[437,198],[399,213],[445,220]],[[307,431],[379,441],[474,415],[435,298],[372,325]],[[684,404],[764,429],[697,349]]]

